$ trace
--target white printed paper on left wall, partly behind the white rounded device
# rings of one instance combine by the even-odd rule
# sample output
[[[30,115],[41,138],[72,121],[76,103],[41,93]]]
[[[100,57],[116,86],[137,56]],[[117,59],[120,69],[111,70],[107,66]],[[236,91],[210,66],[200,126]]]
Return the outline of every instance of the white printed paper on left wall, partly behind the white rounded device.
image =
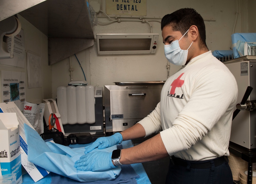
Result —
[[[7,49],[11,50],[11,37],[8,37]],[[14,57],[9,59],[1,59],[0,63],[5,65],[25,67],[25,40],[24,40],[24,30],[21,29],[19,34],[14,36]]]

